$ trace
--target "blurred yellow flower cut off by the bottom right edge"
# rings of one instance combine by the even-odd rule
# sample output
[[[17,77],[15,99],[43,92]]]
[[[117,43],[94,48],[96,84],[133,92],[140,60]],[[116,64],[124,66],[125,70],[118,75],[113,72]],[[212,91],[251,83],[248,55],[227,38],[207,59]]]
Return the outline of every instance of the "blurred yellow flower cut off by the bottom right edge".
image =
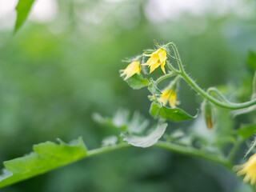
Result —
[[[252,155],[248,162],[240,166],[234,166],[234,170],[238,171],[238,176],[246,174],[246,177],[243,179],[244,182],[249,182],[251,185],[254,185],[256,182],[256,154]]]

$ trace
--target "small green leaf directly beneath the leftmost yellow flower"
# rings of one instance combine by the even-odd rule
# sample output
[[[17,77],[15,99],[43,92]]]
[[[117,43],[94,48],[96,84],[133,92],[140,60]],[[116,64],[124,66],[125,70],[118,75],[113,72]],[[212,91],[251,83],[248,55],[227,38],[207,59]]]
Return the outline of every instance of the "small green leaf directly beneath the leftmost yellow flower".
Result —
[[[122,77],[122,79],[124,79],[124,78],[125,78],[125,76]],[[128,78],[126,80],[126,82],[134,90],[139,90],[144,86],[148,86],[150,83],[147,78],[142,77],[142,74],[134,74],[133,76]]]

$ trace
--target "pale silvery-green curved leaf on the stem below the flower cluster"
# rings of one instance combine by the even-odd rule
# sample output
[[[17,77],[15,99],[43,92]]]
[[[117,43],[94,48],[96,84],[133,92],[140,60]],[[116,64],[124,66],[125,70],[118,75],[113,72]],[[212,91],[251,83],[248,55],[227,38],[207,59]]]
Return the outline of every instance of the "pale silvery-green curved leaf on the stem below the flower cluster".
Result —
[[[122,134],[122,138],[132,146],[139,146],[143,148],[153,146],[154,143],[158,142],[159,138],[162,138],[162,134],[166,131],[166,126],[167,123],[160,123],[149,135],[135,136]]]

